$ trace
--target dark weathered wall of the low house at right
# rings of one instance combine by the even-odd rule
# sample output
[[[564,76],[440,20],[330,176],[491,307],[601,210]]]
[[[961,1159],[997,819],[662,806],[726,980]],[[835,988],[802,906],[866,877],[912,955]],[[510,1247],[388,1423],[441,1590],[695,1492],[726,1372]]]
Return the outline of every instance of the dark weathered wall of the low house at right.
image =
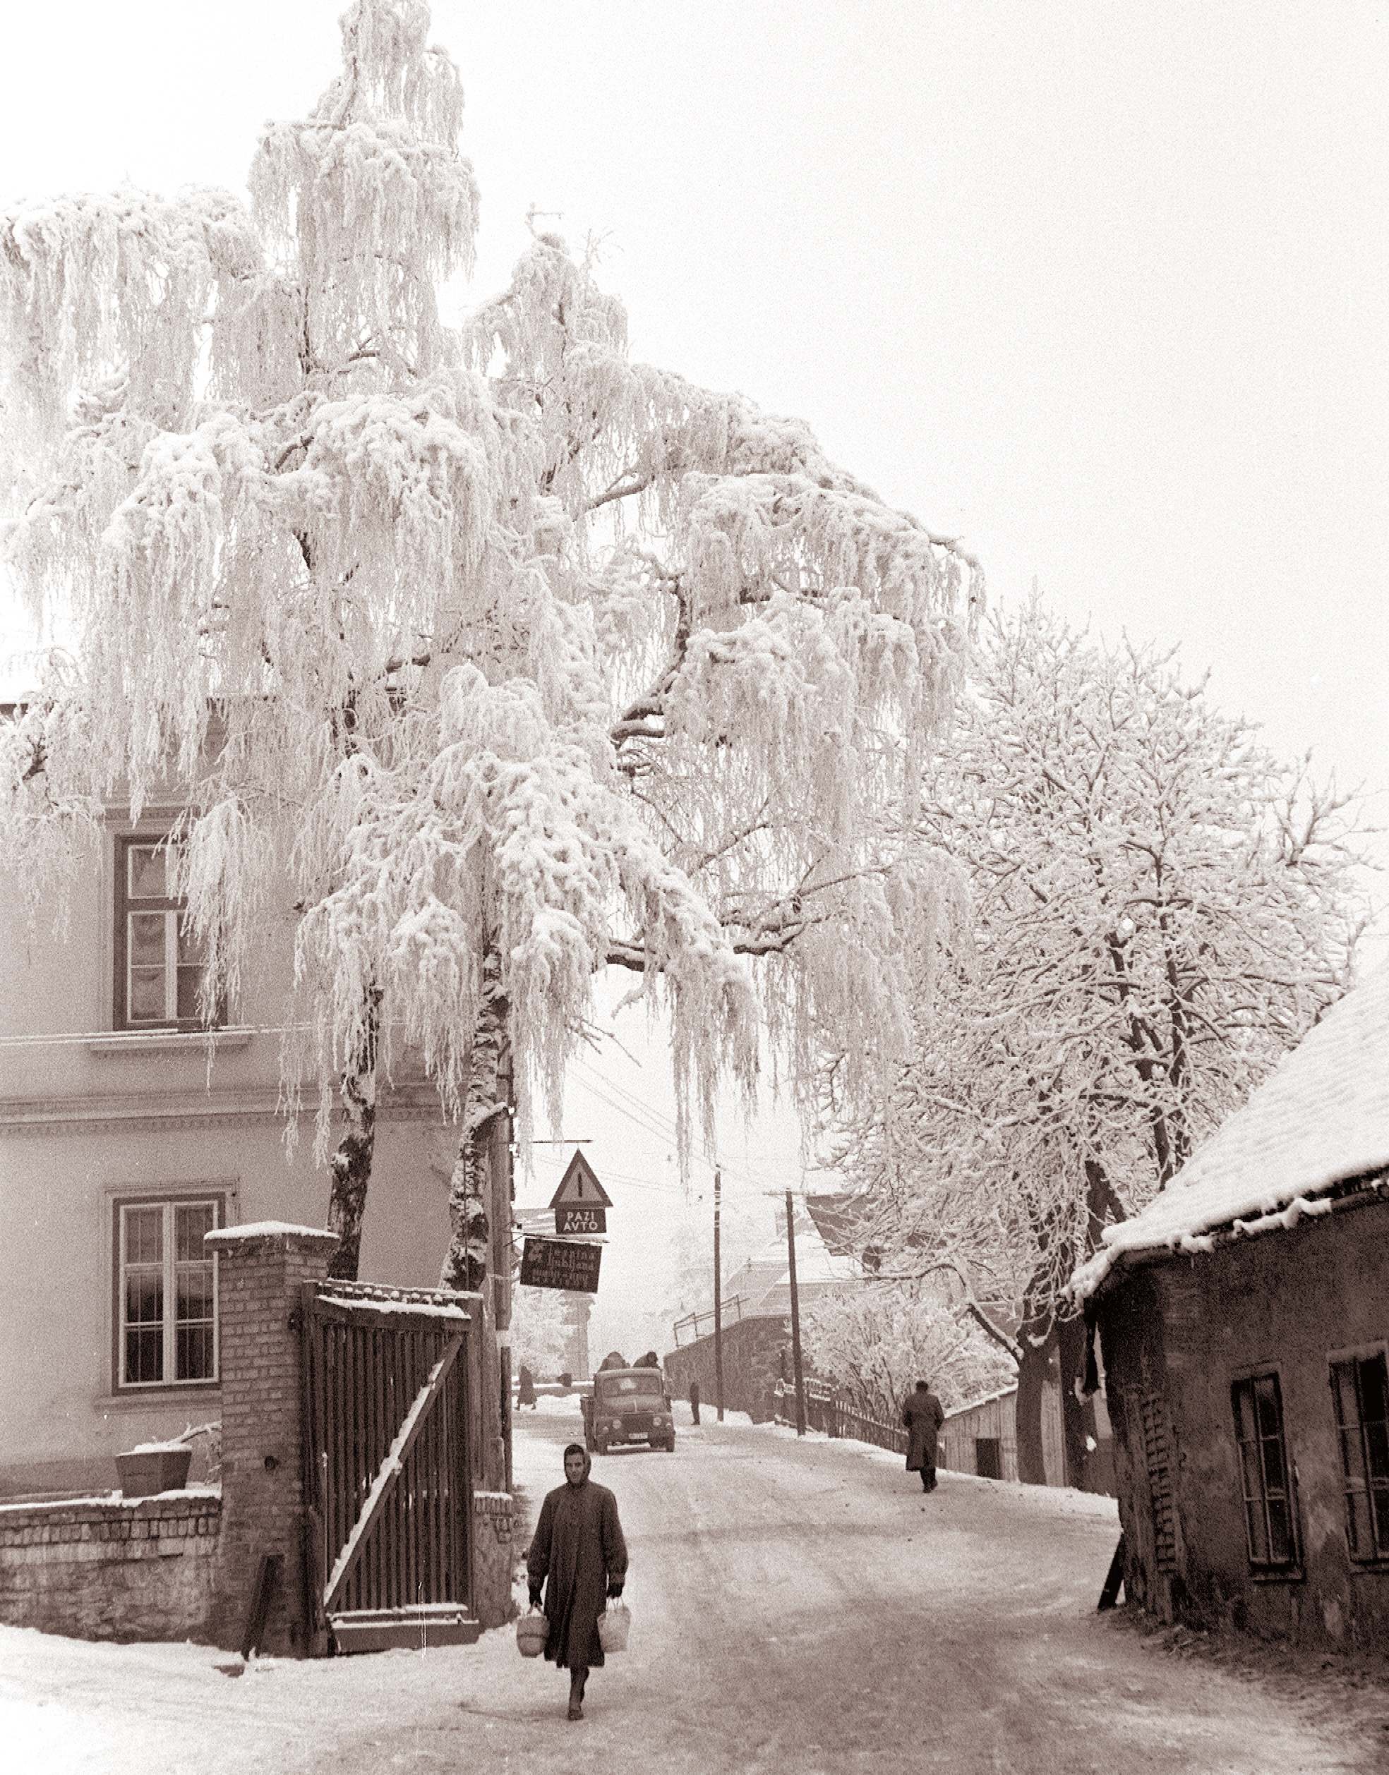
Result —
[[[1389,1571],[1353,1566],[1329,1356],[1389,1338],[1389,1203],[1131,1271],[1099,1301],[1130,1599],[1162,1619],[1389,1649]],[[1300,1569],[1250,1574],[1231,1386],[1275,1372]],[[1149,1480],[1165,1422],[1171,1569]],[[1162,1486],[1158,1484],[1160,1491]]]

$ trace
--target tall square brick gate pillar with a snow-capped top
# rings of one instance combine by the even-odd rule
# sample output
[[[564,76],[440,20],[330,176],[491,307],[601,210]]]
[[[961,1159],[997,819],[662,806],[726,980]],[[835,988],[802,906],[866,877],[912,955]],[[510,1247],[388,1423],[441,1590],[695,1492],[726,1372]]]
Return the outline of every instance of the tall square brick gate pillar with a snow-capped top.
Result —
[[[321,1282],[337,1235],[263,1221],[206,1235],[217,1253],[222,1535],[215,1637],[240,1647],[261,1555],[279,1553],[261,1649],[304,1656],[304,1379],[300,1285]]]

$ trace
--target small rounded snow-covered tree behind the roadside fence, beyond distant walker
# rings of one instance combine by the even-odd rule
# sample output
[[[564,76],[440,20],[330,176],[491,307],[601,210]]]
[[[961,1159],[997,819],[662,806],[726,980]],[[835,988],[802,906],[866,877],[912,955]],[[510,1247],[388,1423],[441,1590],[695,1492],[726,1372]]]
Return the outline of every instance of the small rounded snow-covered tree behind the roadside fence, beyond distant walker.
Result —
[[[801,1312],[801,1344],[815,1374],[886,1424],[917,1381],[931,1381],[954,1411],[1011,1386],[1016,1372],[959,1301],[922,1282],[833,1289]]]

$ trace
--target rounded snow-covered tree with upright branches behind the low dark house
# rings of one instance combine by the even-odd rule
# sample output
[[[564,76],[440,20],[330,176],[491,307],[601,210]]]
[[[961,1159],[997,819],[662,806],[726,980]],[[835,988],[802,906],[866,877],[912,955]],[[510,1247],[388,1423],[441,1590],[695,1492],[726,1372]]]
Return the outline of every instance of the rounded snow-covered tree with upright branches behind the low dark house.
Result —
[[[1345,808],[1171,657],[1098,646],[1036,600],[988,625],[920,818],[970,886],[973,941],[845,1154],[885,1273],[1023,1303],[1023,1477],[1041,1479],[1059,1344],[1083,1447],[1073,1266],[1348,985],[1364,909]]]

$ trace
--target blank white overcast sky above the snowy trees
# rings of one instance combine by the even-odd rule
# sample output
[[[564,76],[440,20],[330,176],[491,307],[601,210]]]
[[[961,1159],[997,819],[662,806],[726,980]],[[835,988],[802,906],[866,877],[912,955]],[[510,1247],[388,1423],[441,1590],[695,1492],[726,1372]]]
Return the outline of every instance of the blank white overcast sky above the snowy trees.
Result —
[[[11,7],[0,202],[242,188],[339,9]],[[433,36],[465,296],[561,211],[634,357],[805,417],[993,602],[1181,643],[1389,825],[1389,7],[441,0]]]

